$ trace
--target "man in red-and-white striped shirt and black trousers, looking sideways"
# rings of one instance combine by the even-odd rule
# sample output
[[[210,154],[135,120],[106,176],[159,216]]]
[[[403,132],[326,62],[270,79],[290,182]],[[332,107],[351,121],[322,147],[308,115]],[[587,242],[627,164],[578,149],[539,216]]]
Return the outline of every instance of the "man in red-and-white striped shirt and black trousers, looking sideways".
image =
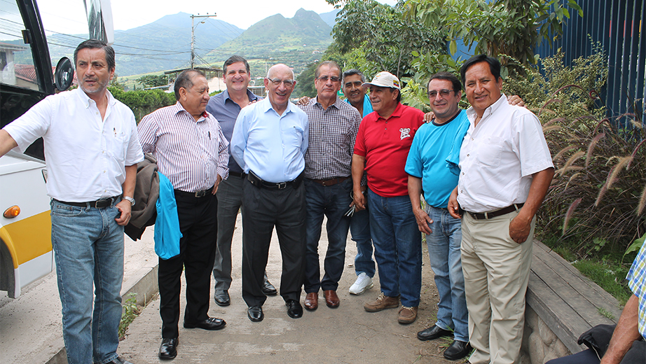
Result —
[[[160,359],[177,356],[182,268],[186,271],[184,328],[219,330],[226,325],[209,317],[208,311],[217,235],[215,193],[228,177],[228,142],[217,120],[205,111],[209,85],[204,73],[183,71],[174,91],[177,104],[150,113],[138,127],[144,152],[155,155],[159,172],[172,183],[182,235],[179,255],[159,259]]]

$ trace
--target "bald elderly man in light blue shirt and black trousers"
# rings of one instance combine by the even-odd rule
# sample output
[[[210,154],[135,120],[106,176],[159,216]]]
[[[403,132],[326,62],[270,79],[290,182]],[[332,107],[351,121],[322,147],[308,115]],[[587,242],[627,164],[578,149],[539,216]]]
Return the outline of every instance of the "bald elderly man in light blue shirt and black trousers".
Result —
[[[298,302],[305,255],[303,170],[308,117],[289,102],[296,81],[284,64],[265,78],[268,96],[240,111],[233,127],[231,155],[247,174],[242,185],[242,298],[251,321],[262,321],[263,273],[276,228],[282,254],[280,295],[291,318],[303,316]]]

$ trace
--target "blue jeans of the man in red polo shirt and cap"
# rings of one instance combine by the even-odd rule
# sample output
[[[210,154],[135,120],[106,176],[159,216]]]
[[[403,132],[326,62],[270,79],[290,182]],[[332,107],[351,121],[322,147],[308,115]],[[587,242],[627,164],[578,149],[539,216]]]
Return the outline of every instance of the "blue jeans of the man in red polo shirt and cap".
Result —
[[[422,233],[411,199],[381,197],[368,189],[370,232],[375,244],[381,291],[401,296],[401,304],[418,307],[422,288]]]

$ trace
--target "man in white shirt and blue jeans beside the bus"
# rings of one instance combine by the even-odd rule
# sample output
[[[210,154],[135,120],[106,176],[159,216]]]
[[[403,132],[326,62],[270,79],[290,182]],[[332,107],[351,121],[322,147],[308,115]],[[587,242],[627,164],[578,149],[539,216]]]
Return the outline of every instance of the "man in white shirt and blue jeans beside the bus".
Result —
[[[135,116],[106,89],[114,76],[112,47],[84,41],[74,64],[79,88],[46,97],[0,130],[0,155],[44,139],[67,362],[123,364],[116,353],[123,227],[144,154]]]

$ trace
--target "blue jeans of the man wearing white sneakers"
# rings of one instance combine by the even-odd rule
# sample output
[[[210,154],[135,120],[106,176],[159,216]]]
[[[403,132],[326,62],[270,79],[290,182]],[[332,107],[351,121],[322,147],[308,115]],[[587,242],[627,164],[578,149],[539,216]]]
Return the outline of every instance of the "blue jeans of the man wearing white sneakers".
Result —
[[[372,239],[370,235],[370,216],[367,210],[355,211],[350,219],[350,235],[357,244],[355,273],[375,276],[375,261],[372,260]]]

